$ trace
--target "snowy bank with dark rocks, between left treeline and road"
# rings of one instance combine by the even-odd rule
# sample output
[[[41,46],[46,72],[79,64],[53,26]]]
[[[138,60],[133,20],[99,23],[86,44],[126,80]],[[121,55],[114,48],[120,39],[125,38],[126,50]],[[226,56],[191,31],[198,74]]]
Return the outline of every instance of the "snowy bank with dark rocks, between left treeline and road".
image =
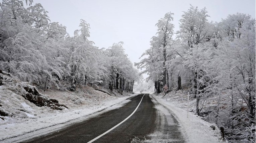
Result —
[[[108,92],[97,87],[108,92],[107,94],[91,86],[80,86],[75,92],[54,89],[43,92],[27,82],[1,73],[0,76],[3,77],[3,85],[0,86],[0,142],[18,141],[21,135],[86,117],[131,96],[131,93],[123,92],[123,95],[120,95],[117,91]],[[30,87],[33,92],[38,91],[37,94],[42,98],[35,99],[40,99],[38,102],[44,99],[46,105],[40,106],[26,100],[24,95],[28,94],[28,91],[24,87]],[[62,106],[56,108],[52,101]]]

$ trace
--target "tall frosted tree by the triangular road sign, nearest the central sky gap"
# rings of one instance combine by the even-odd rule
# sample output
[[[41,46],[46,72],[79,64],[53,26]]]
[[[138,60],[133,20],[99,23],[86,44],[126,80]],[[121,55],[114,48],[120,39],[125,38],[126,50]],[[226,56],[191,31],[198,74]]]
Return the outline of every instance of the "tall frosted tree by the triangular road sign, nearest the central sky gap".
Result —
[[[146,68],[142,73],[148,73],[148,79],[155,81],[155,86],[157,92],[160,93],[160,81],[163,85],[168,83],[168,69],[166,66],[167,59],[172,56],[168,54],[168,50],[173,46],[173,13],[166,13],[164,18],[158,20],[157,26],[157,35],[152,37],[151,48],[146,50],[141,56],[148,56],[147,58],[141,60],[141,62],[136,63],[136,66],[140,69]],[[162,63],[162,64],[161,64]],[[160,66],[162,65],[162,66]]]

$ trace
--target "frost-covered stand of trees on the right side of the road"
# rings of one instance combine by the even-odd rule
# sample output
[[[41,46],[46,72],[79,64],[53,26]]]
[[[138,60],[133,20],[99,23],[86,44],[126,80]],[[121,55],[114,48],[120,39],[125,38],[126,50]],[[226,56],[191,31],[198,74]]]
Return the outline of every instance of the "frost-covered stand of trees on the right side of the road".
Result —
[[[170,92],[189,83],[195,114],[225,128],[231,142],[255,142],[255,19],[236,13],[212,22],[206,8],[190,5],[174,32],[173,15],[158,20],[151,47],[135,65],[157,93],[165,84]],[[203,104],[212,96],[219,100],[205,115]]]

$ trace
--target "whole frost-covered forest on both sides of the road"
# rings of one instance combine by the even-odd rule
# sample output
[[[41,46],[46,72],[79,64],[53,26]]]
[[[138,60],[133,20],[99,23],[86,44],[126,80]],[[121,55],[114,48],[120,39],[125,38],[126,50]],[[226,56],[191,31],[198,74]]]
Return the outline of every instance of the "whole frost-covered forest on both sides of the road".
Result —
[[[206,8],[190,5],[174,31],[168,12],[156,22],[150,48],[134,64],[123,42],[98,48],[90,37],[90,24],[70,36],[66,27],[51,22],[41,4],[32,0],[0,3],[0,70],[47,90],[76,91],[80,85],[133,91],[134,83],[148,74],[155,92],[181,90],[189,83],[194,113],[225,128],[231,142],[255,142],[255,19],[230,14],[220,22],[208,21]],[[183,83],[183,84],[182,84]],[[203,104],[217,97],[214,109]],[[223,97],[229,100],[221,102]]]

